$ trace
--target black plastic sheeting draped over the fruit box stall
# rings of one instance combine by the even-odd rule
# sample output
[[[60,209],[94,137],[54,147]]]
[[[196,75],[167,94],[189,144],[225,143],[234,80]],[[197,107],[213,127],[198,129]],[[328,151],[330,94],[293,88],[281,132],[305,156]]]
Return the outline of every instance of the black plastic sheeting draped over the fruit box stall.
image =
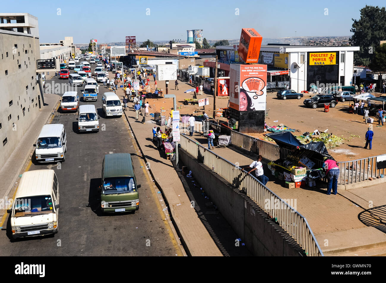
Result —
[[[270,137],[273,139],[278,146],[286,148],[286,149],[296,149],[299,147],[299,149],[306,149],[313,151],[313,157],[319,160],[323,160],[323,157],[327,157],[328,159],[335,160],[332,158],[330,154],[328,154],[327,147],[325,146],[324,142],[309,142],[308,144],[301,144],[298,139],[296,139],[291,132],[276,132],[271,134],[266,134],[267,137]]]

